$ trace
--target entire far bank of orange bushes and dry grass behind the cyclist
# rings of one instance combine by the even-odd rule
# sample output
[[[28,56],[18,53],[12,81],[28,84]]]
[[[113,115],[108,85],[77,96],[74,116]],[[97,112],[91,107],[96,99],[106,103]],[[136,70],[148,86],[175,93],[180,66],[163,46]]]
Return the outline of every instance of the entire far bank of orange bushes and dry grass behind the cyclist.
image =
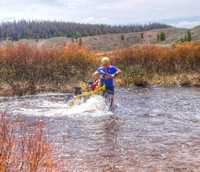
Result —
[[[72,91],[84,85],[82,77],[108,55],[123,73],[116,85],[200,85],[200,43],[161,47],[138,45],[112,52],[93,53],[76,43],[41,49],[20,43],[0,48],[0,95],[34,94],[40,91]]]

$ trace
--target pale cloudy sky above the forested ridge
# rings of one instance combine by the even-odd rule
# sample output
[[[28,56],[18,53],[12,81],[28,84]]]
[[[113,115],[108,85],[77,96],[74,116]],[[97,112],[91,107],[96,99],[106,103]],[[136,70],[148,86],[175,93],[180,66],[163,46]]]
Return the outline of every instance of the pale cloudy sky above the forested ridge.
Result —
[[[20,19],[91,24],[200,25],[200,0],[0,0],[0,22]]]

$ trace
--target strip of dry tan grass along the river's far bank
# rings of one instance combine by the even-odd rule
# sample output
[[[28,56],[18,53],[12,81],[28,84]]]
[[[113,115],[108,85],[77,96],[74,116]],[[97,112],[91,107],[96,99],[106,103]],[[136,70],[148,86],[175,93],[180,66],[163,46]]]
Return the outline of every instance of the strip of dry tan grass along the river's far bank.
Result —
[[[174,74],[172,76],[154,74],[143,78],[116,78],[116,87],[122,86],[188,86],[188,87],[200,87],[200,74],[199,73],[189,73],[189,74]],[[80,86],[83,91],[91,91],[87,88],[86,83],[83,81],[77,81],[69,83],[38,83],[35,85],[30,85],[28,82],[15,82],[13,85],[7,83],[0,84],[0,96],[13,96],[13,95],[30,95],[39,92],[74,92],[74,87]]]

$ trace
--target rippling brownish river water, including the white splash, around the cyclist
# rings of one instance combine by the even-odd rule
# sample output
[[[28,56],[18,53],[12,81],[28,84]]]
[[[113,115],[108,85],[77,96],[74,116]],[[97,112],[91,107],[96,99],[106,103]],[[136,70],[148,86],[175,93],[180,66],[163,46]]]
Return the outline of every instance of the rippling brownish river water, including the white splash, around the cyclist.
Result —
[[[105,109],[101,97],[68,108],[66,93],[0,97],[0,108],[45,129],[68,171],[200,171],[200,88],[123,87],[119,105]]]

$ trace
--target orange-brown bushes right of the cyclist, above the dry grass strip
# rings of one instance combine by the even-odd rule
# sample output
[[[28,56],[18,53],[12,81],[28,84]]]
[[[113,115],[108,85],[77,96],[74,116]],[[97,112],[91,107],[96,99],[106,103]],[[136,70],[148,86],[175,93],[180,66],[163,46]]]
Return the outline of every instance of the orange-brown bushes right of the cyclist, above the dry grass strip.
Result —
[[[200,43],[189,42],[171,47],[137,45],[113,52],[112,61],[123,70],[123,78],[144,80],[157,75],[198,73]]]

